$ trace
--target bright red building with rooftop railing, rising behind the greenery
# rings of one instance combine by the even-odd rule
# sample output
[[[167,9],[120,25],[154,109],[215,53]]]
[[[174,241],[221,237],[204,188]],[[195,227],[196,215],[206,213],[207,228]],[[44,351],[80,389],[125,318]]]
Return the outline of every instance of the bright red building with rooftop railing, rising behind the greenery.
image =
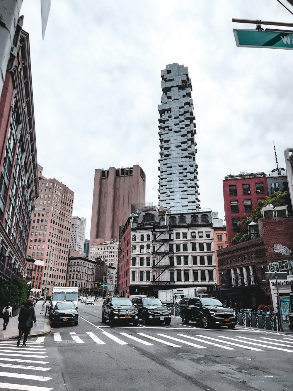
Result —
[[[228,246],[239,232],[237,223],[242,216],[250,216],[257,203],[269,195],[266,174],[226,175],[223,180],[223,195]]]

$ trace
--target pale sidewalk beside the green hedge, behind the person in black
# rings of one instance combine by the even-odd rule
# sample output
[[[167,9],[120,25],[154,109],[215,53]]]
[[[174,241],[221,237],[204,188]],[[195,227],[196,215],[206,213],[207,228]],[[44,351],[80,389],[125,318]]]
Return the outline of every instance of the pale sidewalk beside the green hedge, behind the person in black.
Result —
[[[42,310],[43,301],[38,301],[35,307],[37,325],[32,326],[29,336],[37,336],[51,331],[49,317],[45,316],[46,306]],[[9,319],[6,330],[3,330],[3,320],[0,323],[0,341],[18,337],[18,315]]]

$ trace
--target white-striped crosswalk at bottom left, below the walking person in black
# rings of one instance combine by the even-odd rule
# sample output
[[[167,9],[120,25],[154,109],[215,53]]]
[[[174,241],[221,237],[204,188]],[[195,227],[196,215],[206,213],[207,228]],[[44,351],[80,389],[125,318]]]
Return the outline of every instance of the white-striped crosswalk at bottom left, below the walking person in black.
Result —
[[[50,387],[41,385],[52,379],[52,377],[44,376],[47,371],[51,370],[47,366],[49,362],[44,361],[48,357],[44,339],[45,337],[38,337],[36,341],[27,341],[27,346],[17,346],[16,340],[0,342],[0,389],[52,390]],[[40,384],[40,386],[34,386],[32,383]]]

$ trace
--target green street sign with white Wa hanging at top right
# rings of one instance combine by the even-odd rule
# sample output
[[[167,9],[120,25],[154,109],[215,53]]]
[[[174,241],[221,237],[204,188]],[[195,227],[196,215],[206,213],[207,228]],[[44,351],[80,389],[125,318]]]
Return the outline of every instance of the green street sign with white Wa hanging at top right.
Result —
[[[293,32],[273,32],[233,29],[239,48],[269,48],[293,50]]]

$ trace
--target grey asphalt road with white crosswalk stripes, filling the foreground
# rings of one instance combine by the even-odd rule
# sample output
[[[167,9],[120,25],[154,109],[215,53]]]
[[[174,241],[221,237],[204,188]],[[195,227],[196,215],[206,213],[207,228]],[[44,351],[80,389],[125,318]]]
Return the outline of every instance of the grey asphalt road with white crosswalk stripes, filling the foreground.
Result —
[[[37,358],[24,357],[24,353],[23,357],[15,356],[19,350],[24,352],[22,347],[13,352],[16,341],[0,343],[0,365],[8,364],[0,368],[0,389],[293,389],[293,335],[248,331],[237,326],[234,330],[205,330],[195,323],[183,325],[178,317],[172,318],[170,326],[144,326],[139,322],[137,327],[109,327],[102,323],[101,308],[79,303],[77,326],[62,325],[52,328],[50,335],[30,339],[26,356]],[[19,358],[36,362],[4,360]],[[14,364],[37,369],[12,368]],[[28,378],[21,378],[23,375]],[[32,375],[48,379],[39,380]],[[5,388],[9,383],[28,388]]]

